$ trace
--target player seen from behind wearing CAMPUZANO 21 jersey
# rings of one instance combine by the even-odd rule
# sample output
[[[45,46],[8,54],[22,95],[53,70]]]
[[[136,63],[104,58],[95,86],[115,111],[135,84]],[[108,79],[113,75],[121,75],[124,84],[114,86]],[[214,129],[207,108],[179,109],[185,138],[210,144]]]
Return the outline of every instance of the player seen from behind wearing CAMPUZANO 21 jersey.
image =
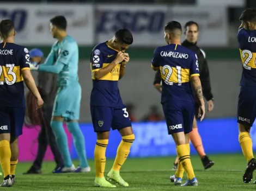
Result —
[[[199,79],[197,55],[181,46],[182,29],[179,22],[168,22],[164,27],[167,46],[157,47],[152,67],[160,69],[162,77],[162,99],[164,116],[169,135],[172,135],[179,157],[176,184],[181,184],[184,169],[188,180],[181,186],[197,186],[190,160],[189,133],[194,119],[194,98],[191,82],[200,101],[200,120],[205,114],[203,91]],[[179,181],[178,181],[179,180]]]

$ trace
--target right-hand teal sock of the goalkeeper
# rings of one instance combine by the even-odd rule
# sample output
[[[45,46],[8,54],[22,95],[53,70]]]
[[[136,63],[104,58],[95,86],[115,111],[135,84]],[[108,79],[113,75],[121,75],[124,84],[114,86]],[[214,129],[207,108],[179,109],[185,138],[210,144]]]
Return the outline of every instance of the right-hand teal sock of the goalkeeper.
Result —
[[[76,152],[80,161],[80,167],[82,168],[89,167],[88,161],[86,158],[86,143],[84,142],[83,133],[80,129],[78,122],[69,122],[67,124],[68,124],[68,129],[71,132],[74,140]]]

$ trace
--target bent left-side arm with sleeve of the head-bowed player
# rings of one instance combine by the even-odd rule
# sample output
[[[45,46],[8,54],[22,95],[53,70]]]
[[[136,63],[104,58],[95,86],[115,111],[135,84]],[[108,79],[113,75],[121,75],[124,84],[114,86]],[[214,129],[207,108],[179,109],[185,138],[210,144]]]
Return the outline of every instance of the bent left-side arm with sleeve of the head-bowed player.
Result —
[[[96,57],[95,57],[96,56]],[[99,58],[99,60],[97,60]],[[104,77],[106,74],[112,71],[112,69],[118,65],[120,62],[124,60],[125,56],[124,53],[119,52],[117,57],[106,67],[102,68],[103,66],[103,55],[100,53],[99,55],[92,56],[92,73],[95,80],[99,80]]]

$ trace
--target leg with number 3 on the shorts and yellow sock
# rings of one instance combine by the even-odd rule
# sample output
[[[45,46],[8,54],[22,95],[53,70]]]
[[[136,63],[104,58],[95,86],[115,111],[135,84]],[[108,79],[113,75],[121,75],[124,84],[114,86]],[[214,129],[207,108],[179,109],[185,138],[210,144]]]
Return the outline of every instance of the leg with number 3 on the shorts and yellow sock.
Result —
[[[129,114],[125,107],[115,108],[112,122],[112,129],[117,129],[122,136],[122,140],[117,149],[117,156],[111,171],[107,174],[108,180],[118,183],[120,186],[129,186],[120,176],[120,169],[125,163],[131,149],[135,135],[133,134]]]

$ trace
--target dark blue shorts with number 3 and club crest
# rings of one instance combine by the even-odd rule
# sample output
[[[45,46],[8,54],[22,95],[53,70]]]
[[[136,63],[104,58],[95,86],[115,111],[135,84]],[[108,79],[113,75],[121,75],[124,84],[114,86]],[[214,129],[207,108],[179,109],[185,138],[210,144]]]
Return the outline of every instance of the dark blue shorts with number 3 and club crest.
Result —
[[[93,128],[95,132],[121,130],[131,125],[126,107],[90,106]]]

